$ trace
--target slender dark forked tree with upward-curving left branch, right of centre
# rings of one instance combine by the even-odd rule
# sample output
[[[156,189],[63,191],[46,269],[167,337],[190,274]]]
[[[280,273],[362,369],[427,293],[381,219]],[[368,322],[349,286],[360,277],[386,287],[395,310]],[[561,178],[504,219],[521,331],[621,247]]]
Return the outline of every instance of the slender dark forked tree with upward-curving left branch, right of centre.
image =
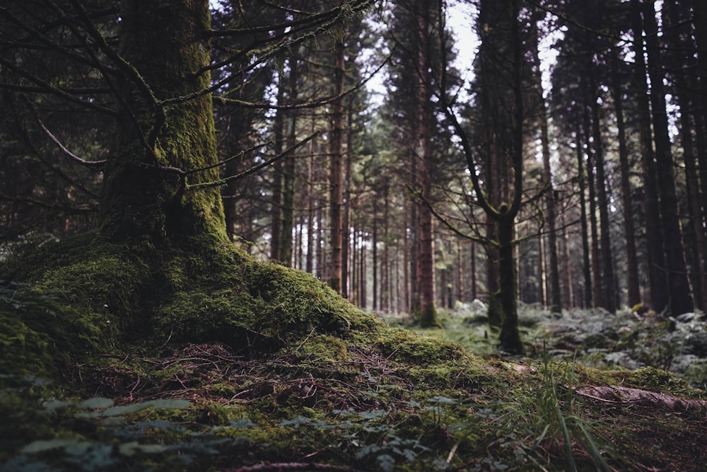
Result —
[[[498,250],[498,292],[503,320],[499,340],[506,352],[523,352],[518,332],[518,301],[515,276],[515,217],[520,211],[523,197],[523,142],[524,95],[523,69],[525,51],[522,46],[518,0],[485,1],[479,4],[479,36],[481,46],[477,61],[481,84],[481,113],[484,117],[486,136],[491,142],[493,159],[487,157],[487,166],[495,173],[482,178],[481,164],[469,139],[467,130],[457,118],[448,88],[448,62],[440,67],[439,98],[445,114],[460,140],[469,175],[472,179],[474,199],[493,224],[493,239],[484,242]],[[440,38],[445,38],[443,25],[438,28]],[[445,44],[443,41],[442,44]],[[443,58],[445,50],[442,50]],[[491,154],[487,155],[490,156]],[[490,169],[489,169],[490,170]],[[492,178],[488,178],[491,175]],[[496,176],[494,179],[493,177]],[[482,183],[484,182],[484,183]],[[498,185],[494,187],[494,185]]]

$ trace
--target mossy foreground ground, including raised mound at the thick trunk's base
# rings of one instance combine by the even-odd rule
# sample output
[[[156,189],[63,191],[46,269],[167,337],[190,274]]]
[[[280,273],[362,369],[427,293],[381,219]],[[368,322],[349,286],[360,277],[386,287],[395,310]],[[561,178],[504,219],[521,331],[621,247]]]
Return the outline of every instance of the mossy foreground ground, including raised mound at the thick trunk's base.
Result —
[[[0,471],[707,464],[704,392],[663,370],[474,355],[303,272],[164,254],[89,234],[2,267]]]

